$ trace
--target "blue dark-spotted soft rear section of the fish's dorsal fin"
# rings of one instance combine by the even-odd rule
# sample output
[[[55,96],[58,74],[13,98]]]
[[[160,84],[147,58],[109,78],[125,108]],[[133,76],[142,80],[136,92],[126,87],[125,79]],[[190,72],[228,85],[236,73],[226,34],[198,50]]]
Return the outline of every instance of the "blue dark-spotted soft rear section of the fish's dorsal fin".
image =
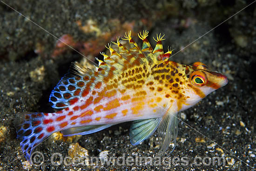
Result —
[[[63,109],[85,97],[91,89],[104,79],[99,72],[72,63],[68,73],[61,78],[52,91],[49,102],[55,109]]]

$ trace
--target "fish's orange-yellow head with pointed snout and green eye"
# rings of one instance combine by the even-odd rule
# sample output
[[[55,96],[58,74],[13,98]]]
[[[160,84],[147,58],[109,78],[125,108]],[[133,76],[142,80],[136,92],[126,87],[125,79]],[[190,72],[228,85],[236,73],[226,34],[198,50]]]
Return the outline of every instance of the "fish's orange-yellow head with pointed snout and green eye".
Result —
[[[225,75],[212,72],[202,62],[195,62],[192,66],[168,63],[172,70],[166,80],[168,87],[166,97],[171,98],[178,105],[177,111],[192,107],[211,92],[228,83]]]

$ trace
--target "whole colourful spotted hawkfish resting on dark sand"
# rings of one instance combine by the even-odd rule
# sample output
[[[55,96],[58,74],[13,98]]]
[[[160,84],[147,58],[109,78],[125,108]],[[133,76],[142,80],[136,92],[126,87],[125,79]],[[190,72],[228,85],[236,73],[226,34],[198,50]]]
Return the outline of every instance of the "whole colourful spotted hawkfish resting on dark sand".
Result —
[[[112,125],[132,121],[130,142],[138,145],[157,132],[161,149],[167,151],[178,131],[178,112],[186,110],[209,93],[228,83],[225,75],[213,72],[202,62],[176,63],[172,51],[163,52],[164,35],[156,35],[153,49],[144,30],[142,46],[125,33],[130,48],[120,37],[108,44],[96,71],[72,63],[50,94],[58,112],[20,112],[15,128],[24,156],[29,161],[34,148],[54,132],[64,136],[87,135]],[[117,52],[118,51],[118,52]],[[174,147],[172,151],[174,150]]]

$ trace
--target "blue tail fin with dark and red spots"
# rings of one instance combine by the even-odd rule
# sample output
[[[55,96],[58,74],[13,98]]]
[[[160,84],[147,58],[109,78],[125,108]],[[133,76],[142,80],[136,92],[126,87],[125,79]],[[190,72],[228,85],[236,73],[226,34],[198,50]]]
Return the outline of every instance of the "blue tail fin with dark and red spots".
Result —
[[[30,161],[30,155],[34,148],[52,133],[48,133],[43,124],[45,118],[42,112],[17,113],[15,118],[17,138],[20,138],[20,146],[24,156]]]

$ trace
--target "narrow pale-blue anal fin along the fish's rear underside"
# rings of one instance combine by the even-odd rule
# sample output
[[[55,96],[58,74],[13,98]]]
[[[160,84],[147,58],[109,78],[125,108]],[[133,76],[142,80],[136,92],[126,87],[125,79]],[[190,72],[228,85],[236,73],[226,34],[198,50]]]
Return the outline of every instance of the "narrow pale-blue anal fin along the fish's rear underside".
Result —
[[[67,130],[62,130],[64,136],[73,136],[73,135],[87,135],[94,132],[104,130],[112,125],[88,125],[69,128]]]

